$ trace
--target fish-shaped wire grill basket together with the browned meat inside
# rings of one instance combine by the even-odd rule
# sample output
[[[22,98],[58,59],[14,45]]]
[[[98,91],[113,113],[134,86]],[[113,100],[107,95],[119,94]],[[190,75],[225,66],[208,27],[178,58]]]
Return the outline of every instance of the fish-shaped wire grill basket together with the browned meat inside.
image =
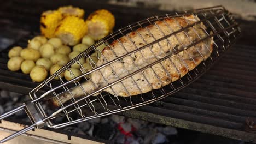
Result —
[[[239,34],[222,6],[153,16],[118,29],[34,88],[30,102],[1,115],[25,110],[32,122],[1,143],[44,125],[66,127],[165,98],[205,73]],[[64,72],[72,80],[64,80]]]

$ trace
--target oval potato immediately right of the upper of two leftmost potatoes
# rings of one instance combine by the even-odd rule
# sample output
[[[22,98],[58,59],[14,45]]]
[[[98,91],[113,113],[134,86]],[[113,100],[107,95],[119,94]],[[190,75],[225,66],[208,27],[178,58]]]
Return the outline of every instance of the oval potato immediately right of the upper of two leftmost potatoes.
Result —
[[[40,58],[40,52],[35,49],[26,48],[21,50],[20,56],[26,60],[37,61]]]

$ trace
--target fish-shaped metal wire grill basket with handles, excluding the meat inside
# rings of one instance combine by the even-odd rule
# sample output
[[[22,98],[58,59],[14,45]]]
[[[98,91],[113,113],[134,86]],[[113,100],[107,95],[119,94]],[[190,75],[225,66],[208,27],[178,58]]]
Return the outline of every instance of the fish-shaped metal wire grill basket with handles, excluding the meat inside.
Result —
[[[194,23],[189,23],[189,21],[185,21],[185,23],[188,24],[185,27],[179,25],[179,23],[175,19],[175,17],[185,17],[188,15],[193,16],[196,21]],[[173,21],[176,21],[177,25],[180,28],[177,31],[172,31],[171,27],[169,27],[171,34],[165,35],[163,33],[163,36],[159,39],[154,38],[154,35],[150,33],[150,31],[148,31],[148,33],[154,38],[153,42],[146,43],[146,45],[143,45],[141,47],[137,47],[135,45],[135,50],[126,51],[126,53],[124,53],[124,55],[122,56],[118,56],[117,53],[114,52],[113,45],[111,45],[113,41],[115,41],[115,43],[119,43],[124,48],[124,50],[126,50],[126,47],[122,44],[123,42],[120,40],[121,37],[123,37],[124,35],[127,36],[130,32],[136,32],[138,35],[141,35],[137,31],[137,29],[147,29],[147,26],[149,25],[154,25],[159,28],[156,21],[165,22],[165,19],[171,19]],[[195,25],[200,25],[201,23],[203,23],[204,25],[204,27],[201,27],[201,29],[205,33],[205,37],[200,37],[200,35],[197,34],[197,31],[194,29]],[[189,34],[187,34],[186,31],[189,28],[192,28],[193,31],[197,34],[198,38],[196,41],[190,40]],[[184,45],[182,41],[179,40],[179,38],[177,37],[179,33],[185,34],[189,41],[189,44]],[[238,24],[235,22],[234,17],[229,13],[229,11],[227,11],[222,6],[195,9],[191,11],[184,11],[182,13],[153,16],[146,20],[142,20],[133,23],[132,25],[129,25],[127,27],[118,29],[118,31],[101,39],[96,44],[90,46],[87,50],[80,53],[80,55],[72,59],[66,65],[64,65],[54,75],[51,75],[38,87],[34,88],[29,93],[31,101],[29,101],[28,103],[24,103],[20,107],[1,115],[0,121],[6,117],[14,115],[16,112],[25,110],[28,117],[31,119],[32,125],[14,133],[13,135],[10,135],[9,137],[6,137],[5,139],[1,140],[0,143],[8,141],[15,136],[24,134],[26,133],[26,131],[32,130],[34,128],[42,128],[44,125],[50,128],[62,128],[66,127],[67,125],[87,121],[92,118],[102,117],[110,115],[112,113],[135,109],[136,107],[153,103],[154,101],[165,98],[179,91],[179,89],[182,89],[185,86],[189,85],[189,83],[193,82],[202,74],[204,74],[205,71],[209,69],[211,65],[213,65],[214,62],[216,62],[219,59],[219,57],[223,55],[223,53],[230,47],[230,45],[236,41],[239,34],[240,28],[238,27]],[[167,52],[162,57],[155,56],[155,61],[145,63],[143,67],[137,67],[137,69],[132,71],[131,73],[129,72],[129,70],[127,70],[127,74],[123,76],[117,76],[118,79],[112,82],[108,82],[106,80],[106,77],[102,75],[103,79],[106,80],[107,85],[103,87],[98,87],[91,93],[85,92],[82,85],[86,81],[91,81],[91,74],[95,73],[95,71],[100,71],[100,74],[102,74],[101,70],[104,67],[108,67],[110,65],[110,68],[112,68],[112,73],[117,74],[117,71],[115,71],[113,67],[111,67],[112,64],[114,64],[115,62],[122,62],[123,58],[132,57],[134,56],[134,53],[141,52],[142,50],[147,49],[147,47],[150,47],[152,45],[159,45],[160,42],[163,40],[167,40],[168,45],[172,46],[168,38],[173,36],[177,38],[179,45],[181,46],[180,49],[176,49],[176,47],[173,46],[172,52]],[[141,38],[144,41],[146,41],[143,37]],[[186,51],[191,47],[195,46],[196,44],[203,43],[203,41],[210,38],[213,39],[213,50],[211,52],[210,57],[208,57],[207,59],[202,57],[203,61],[199,65],[197,65],[197,67],[195,67],[193,70],[188,71],[188,73],[184,76],[181,76],[181,73],[178,72],[178,80],[173,81],[170,84],[162,86],[158,89],[153,88],[153,90],[147,93],[142,93],[142,90],[136,83],[136,81],[138,80],[133,79],[133,75],[142,73],[143,70],[152,68],[153,65],[161,63],[165,59],[170,59],[172,56],[178,55],[180,52]],[[104,56],[104,52],[101,52],[99,50],[99,47],[102,46],[102,44],[105,46],[104,49],[113,51],[115,58],[113,58],[111,61],[108,61],[106,56]],[[159,47],[159,49],[161,49],[161,45],[159,45]],[[97,65],[95,59],[91,57],[91,54],[94,52],[97,52],[98,59],[103,58],[106,62],[102,65]],[[200,51],[198,52],[200,53]],[[179,58],[182,59],[182,57]],[[91,70],[86,71],[86,68],[83,67],[81,59],[87,59],[87,61],[93,68]],[[193,60],[193,58],[191,59]],[[184,61],[184,59],[182,60]],[[135,63],[134,57],[133,63]],[[73,64],[78,64],[80,66],[80,71],[82,72],[82,75],[75,77],[74,71],[72,71],[71,68]],[[176,65],[173,64],[172,66],[176,68]],[[125,67],[123,67],[123,69],[125,69]],[[164,70],[166,71],[166,73],[168,73],[168,71],[165,68]],[[73,79],[70,81],[64,80],[60,76],[64,71],[68,71],[68,73],[73,77]],[[155,73],[154,70],[153,72]],[[143,76],[145,80],[148,79],[146,74],[143,74]],[[156,76],[158,77],[161,85],[162,83],[160,80],[160,76]],[[171,75],[168,76],[170,76],[171,79]],[[55,80],[55,78],[57,77],[59,78],[59,80]],[[141,92],[140,94],[132,95],[127,91],[128,87],[126,87],[123,84],[124,80],[127,79],[131,79],[135,82],[134,85],[139,89],[139,91]],[[109,88],[112,89],[113,93],[115,93],[113,90],[113,86],[117,85],[117,83],[124,87],[125,91],[127,92],[127,97],[121,97],[117,96],[118,94],[110,94],[104,92],[104,89]],[[95,83],[92,82],[92,84]],[[148,84],[150,87],[153,87],[150,84],[150,82],[148,82]],[[84,92],[84,96],[74,97],[74,87],[80,88],[80,91]],[[40,91],[42,89],[44,89],[44,91],[46,90],[46,92],[42,93],[42,91]],[[63,103],[63,101],[61,100],[61,95],[63,94],[71,95],[71,98],[67,100],[66,103]],[[52,106],[49,103],[50,99],[59,100],[58,103],[60,104],[60,106]],[[62,118],[63,121],[57,121],[58,118]]]

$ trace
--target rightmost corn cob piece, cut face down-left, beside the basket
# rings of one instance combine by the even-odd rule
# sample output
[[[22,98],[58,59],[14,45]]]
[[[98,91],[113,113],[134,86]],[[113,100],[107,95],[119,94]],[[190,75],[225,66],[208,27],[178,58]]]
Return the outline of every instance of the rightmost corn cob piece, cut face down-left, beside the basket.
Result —
[[[88,35],[94,40],[100,40],[112,31],[115,18],[108,10],[100,9],[89,15],[86,24]]]

